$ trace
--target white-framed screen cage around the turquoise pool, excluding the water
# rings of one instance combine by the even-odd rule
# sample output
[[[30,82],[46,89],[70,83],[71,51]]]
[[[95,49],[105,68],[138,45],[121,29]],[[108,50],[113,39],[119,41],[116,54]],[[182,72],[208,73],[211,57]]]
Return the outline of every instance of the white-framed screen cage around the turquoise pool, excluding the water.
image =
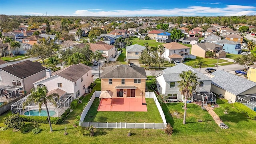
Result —
[[[28,96],[22,98],[21,100],[18,100],[17,102],[11,105],[12,113],[19,113],[20,115],[25,115],[24,113],[27,112],[27,116],[34,116],[32,114],[30,115],[30,110],[39,110],[38,104],[31,103],[28,106],[22,108],[22,104],[26,101]],[[72,100],[74,100],[74,93],[66,93],[62,95],[59,99],[57,97],[54,98],[54,100],[57,106],[54,106],[54,104],[52,104],[51,102],[47,102],[47,107],[49,111],[55,112],[55,114],[52,117],[59,117],[61,116],[61,114],[64,113],[66,109],[70,108],[70,104]],[[44,104],[42,104],[42,110],[46,110]],[[38,115],[40,116],[39,112]]]

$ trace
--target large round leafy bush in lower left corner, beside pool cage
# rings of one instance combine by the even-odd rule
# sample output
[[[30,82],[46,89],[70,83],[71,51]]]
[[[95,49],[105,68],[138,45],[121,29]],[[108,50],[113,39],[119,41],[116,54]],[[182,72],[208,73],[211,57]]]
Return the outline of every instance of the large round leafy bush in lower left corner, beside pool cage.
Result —
[[[4,118],[4,124],[7,128],[13,128],[14,130],[18,130],[25,125],[19,113],[6,116]]]

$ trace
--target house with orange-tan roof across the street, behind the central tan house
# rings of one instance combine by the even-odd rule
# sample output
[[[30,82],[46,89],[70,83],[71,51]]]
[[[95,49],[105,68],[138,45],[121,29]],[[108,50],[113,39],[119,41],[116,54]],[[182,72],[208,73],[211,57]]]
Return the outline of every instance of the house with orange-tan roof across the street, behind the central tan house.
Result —
[[[110,58],[113,58],[117,54],[115,46],[111,46],[102,41],[96,42],[95,44],[90,43],[90,48],[92,52],[99,51],[104,53],[102,56],[105,57],[106,59],[105,60],[102,59],[100,60],[100,62],[105,62],[105,61],[109,62]]]

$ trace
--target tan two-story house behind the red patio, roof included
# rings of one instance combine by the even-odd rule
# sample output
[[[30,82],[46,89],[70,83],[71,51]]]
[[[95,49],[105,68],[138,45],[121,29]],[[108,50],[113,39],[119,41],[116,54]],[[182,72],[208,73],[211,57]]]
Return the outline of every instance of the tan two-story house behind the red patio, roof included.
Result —
[[[101,79],[101,90],[113,92],[113,98],[141,98],[146,88],[146,71],[142,67],[120,65],[105,67]]]

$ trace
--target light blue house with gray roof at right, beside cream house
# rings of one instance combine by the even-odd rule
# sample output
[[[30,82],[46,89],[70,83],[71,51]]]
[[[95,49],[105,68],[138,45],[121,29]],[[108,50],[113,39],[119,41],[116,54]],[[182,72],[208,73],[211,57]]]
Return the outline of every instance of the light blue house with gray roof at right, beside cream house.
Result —
[[[216,44],[223,46],[223,51],[227,52],[228,54],[241,54],[241,44],[238,42],[234,42],[231,40],[219,40],[214,42]]]

